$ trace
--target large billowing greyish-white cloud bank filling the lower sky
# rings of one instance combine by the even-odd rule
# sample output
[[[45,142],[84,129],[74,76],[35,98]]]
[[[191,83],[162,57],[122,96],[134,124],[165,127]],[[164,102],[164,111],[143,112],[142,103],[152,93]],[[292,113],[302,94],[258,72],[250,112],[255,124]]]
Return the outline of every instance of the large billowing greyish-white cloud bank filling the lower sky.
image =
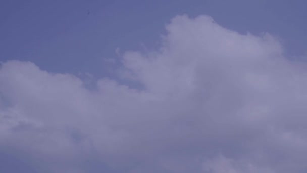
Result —
[[[166,30],[157,50],[123,54],[124,80],[95,89],[31,62],[3,63],[0,170],[304,172],[304,64],[269,34],[242,35],[208,16],[177,16]]]

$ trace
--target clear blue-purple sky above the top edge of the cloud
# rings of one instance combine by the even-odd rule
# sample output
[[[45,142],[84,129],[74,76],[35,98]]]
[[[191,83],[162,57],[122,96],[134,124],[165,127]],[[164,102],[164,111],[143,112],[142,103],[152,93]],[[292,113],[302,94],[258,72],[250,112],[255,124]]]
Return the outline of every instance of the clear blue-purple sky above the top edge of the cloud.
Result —
[[[116,58],[117,48],[157,47],[165,25],[182,14],[209,15],[240,33],[268,32],[297,57],[306,53],[306,6],[303,0],[3,0],[0,57],[31,61],[52,72],[106,76],[110,64],[104,58]]]

